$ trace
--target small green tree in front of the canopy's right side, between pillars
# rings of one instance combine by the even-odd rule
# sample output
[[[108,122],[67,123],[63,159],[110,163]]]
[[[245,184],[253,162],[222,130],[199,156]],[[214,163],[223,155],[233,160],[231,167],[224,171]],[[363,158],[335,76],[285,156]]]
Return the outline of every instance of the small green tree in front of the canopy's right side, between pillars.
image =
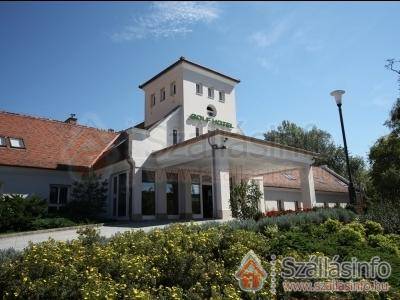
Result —
[[[261,198],[262,192],[254,180],[234,185],[229,199],[232,216],[241,220],[256,219],[259,215],[258,203]]]

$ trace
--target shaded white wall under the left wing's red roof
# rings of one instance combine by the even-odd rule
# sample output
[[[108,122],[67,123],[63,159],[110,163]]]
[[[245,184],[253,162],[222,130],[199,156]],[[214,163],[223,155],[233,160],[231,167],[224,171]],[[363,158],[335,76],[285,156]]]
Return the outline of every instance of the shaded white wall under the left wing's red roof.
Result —
[[[0,166],[0,182],[5,194],[35,194],[48,199],[51,184],[72,185],[80,173]]]

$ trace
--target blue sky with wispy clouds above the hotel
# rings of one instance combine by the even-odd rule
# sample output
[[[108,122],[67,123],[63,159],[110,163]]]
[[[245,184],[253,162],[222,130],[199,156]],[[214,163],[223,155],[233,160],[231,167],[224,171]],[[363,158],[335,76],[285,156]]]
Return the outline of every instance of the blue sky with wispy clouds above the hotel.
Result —
[[[350,151],[387,133],[398,97],[400,3],[1,3],[0,109],[124,129],[138,85],[180,56],[241,79],[238,120],[261,137],[282,120],[341,132]]]

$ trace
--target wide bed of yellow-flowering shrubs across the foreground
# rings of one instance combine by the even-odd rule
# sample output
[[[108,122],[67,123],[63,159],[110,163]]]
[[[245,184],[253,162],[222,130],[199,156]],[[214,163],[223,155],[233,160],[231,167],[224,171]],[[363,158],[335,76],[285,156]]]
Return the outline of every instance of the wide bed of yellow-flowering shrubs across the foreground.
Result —
[[[368,225],[371,227],[371,225]],[[0,259],[0,297],[4,299],[272,299],[270,277],[262,290],[240,290],[234,278],[241,259],[253,250],[270,274],[276,254],[306,258],[311,254],[341,259],[379,255],[392,264],[390,297],[398,299],[400,237],[365,234],[365,225],[327,220],[307,227],[265,227],[263,232],[209,226],[172,225],[150,233],[129,231],[105,240],[93,228],[71,242],[49,240],[31,244],[22,253],[5,252]],[[376,226],[374,226],[376,227]],[[347,239],[347,240],[345,240]],[[308,299],[284,294],[277,278],[278,298]],[[358,299],[359,295],[318,294]],[[373,295],[372,295],[373,296]],[[315,299],[317,299],[315,298]],[[368,299],[375,299],[373,297]]]

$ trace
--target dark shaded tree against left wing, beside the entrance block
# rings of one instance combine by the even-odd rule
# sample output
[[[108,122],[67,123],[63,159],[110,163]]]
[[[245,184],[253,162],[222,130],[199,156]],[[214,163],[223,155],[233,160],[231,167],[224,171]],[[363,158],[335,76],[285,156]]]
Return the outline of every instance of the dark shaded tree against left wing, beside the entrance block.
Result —
[[[107,186],[107,180],[102,180],[101,175],[94,172],[83,174],[80,181],[73,183],[67,214],[78,219],[97,218],[105,209]]]

